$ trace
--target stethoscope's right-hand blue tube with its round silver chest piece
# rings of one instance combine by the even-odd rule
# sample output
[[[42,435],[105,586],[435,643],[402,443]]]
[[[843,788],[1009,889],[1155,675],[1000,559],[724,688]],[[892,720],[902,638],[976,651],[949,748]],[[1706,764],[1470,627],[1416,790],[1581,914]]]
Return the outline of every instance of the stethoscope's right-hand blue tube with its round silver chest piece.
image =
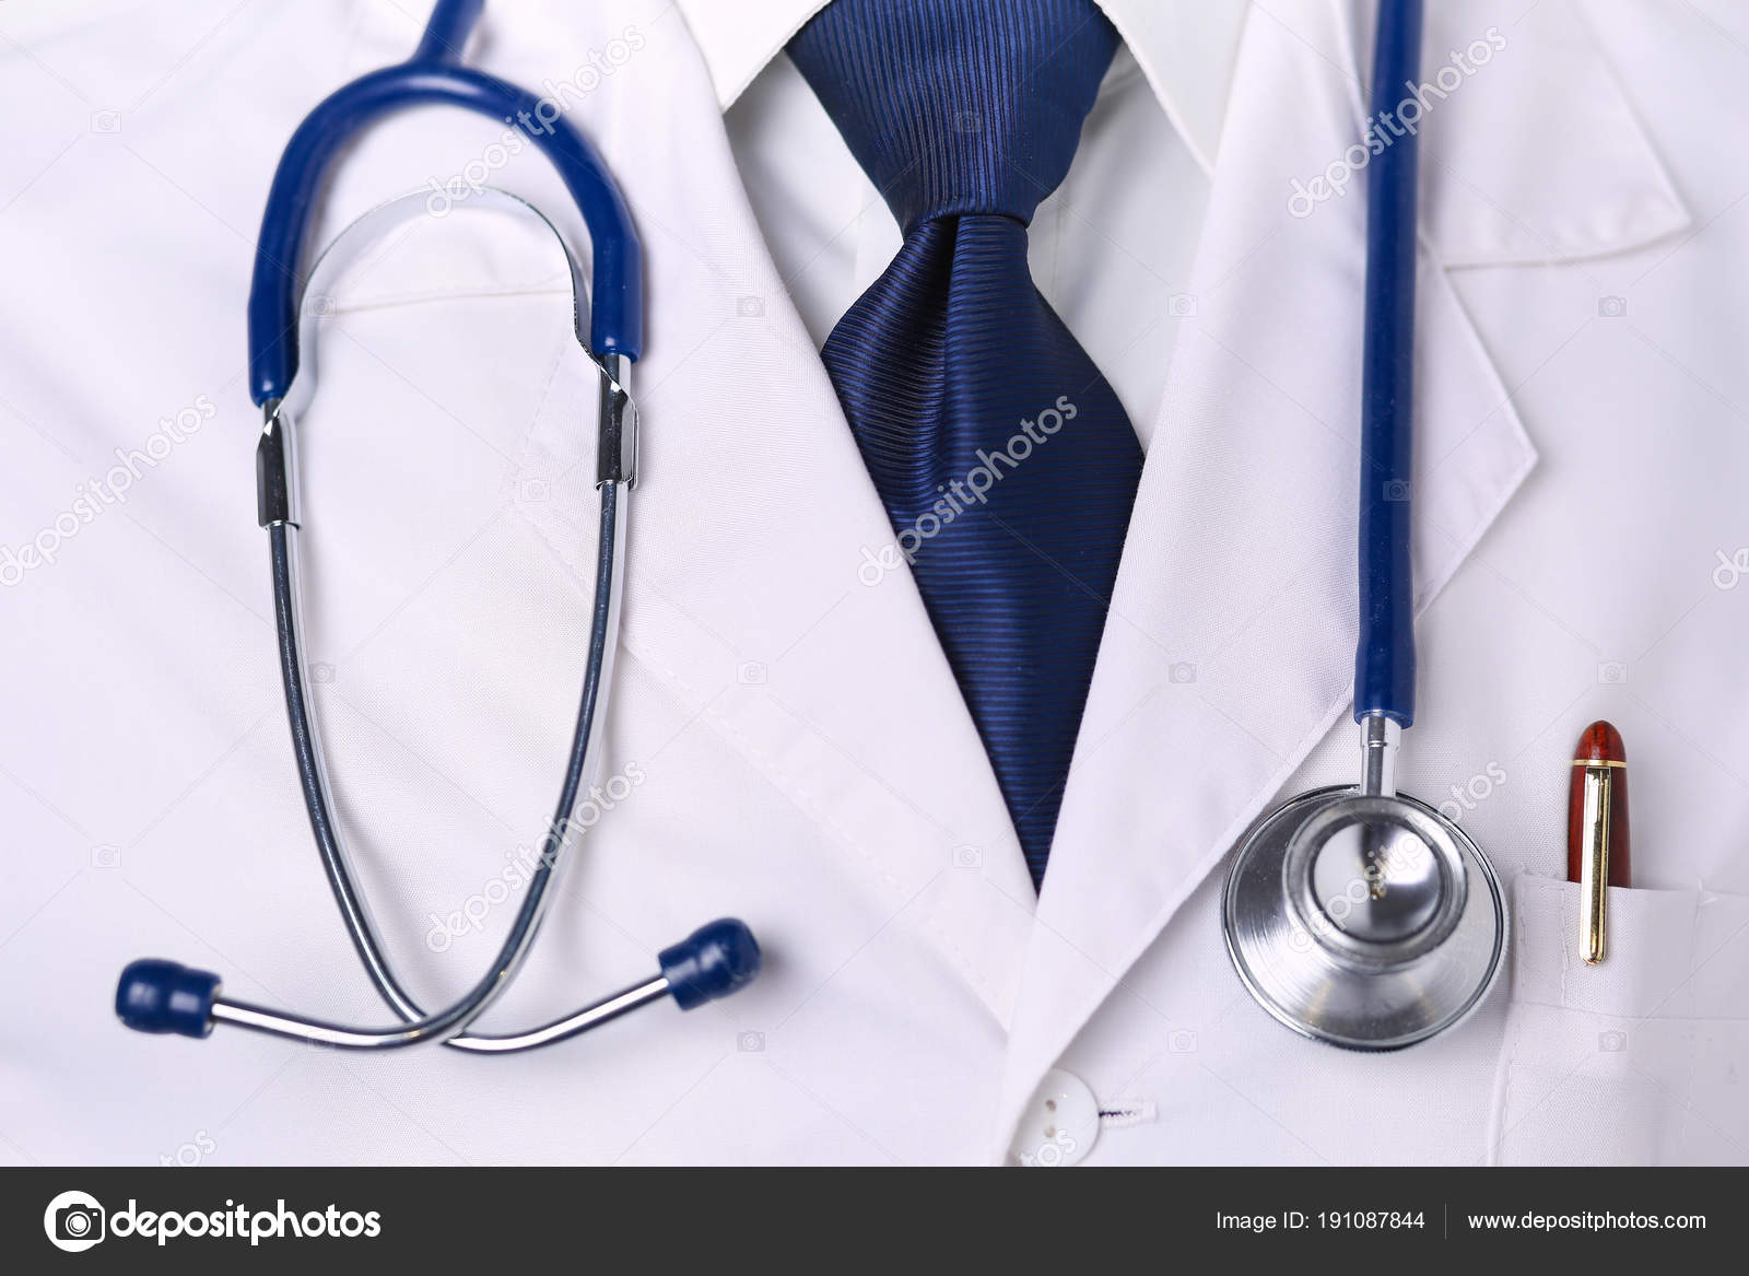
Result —
[[[1418,79],[1420,40],[1420,0],[1383,0],[1375,119]],[[1469,835],[1396,789],[1397,742],[1415,718],[1415,133],[1394,138],[1371,166],[1354,662],[1361,782],[1301,793],[1252,824],[1221,921],[1233,968],[1277,1020],[1315,1041],[1394,1050],[1481,1005],[1506,950],[1506,905]]]

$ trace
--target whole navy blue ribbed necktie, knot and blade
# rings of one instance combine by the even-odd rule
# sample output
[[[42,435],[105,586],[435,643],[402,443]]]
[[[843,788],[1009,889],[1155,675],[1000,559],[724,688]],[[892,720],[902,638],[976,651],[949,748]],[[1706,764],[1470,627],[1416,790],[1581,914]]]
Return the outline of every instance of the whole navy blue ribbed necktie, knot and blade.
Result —
[[[1034,287],[1027,224],[1116,47],[1091,0],[833,0],[789,46],[904,229],[822,357],[1034,884],[1142,450]]]

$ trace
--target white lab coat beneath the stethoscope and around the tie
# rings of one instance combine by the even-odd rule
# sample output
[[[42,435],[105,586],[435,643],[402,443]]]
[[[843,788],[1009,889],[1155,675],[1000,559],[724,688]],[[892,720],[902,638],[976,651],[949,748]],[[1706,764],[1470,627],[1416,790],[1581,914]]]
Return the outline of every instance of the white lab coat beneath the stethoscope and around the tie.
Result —
[[[1224,116],[1177,121],[1212,158],[1198,305],[1139,425],[1041,898],[913,585],[859,579],[892,532],[687,16],[498,0],[470,60],[570,79],[644,236],[649,341],[619,796],[486,1026],[640,980],[715,915],[752,924],[766,971],[504,1059],[121,1029],[115,973],[147,954],[243,999],[388,1019],[297,796],[243,301],[285,137],[406,56],[416,9],[0,16],[0,543],[54,551],[0,590],[0,1159],[995,1162],[1039,1136],[1027,1101],[1060,1069],[1125,1113],[1086,1164],[1749,1160],[1749,119],[1740,49],[1665,4],[1431,16],[1434,51],[1509,39],[1424,149],[1422,683],[1399,779],[1450,800],[1513,901],[1508,973],[1460,1029],[1389,1055],[1303,1041],[1245,994],[1217,921],[1247,823],[1354,772],[1364,200],[1293,217],[1287,196],[1355,140],[1371,19],[1310,0],[1254,7]],[[486,170],[582,245],[532,152],[497,163],[500,135],[383,124],[338,168],[324,236]],[[324,305],[303,422],[318,704],[378,921],[439,1001],[512,905],[481,933],[434,915],[498,894],[558,782],[593,383],[551,245],[488,214],[418,224]],[[117,448],[147,457],[126,501],[80,513]],[[1611,957],[1585,970],[1560,879],[1593,718],[1627,739],[1641,889],[1613,893]]]

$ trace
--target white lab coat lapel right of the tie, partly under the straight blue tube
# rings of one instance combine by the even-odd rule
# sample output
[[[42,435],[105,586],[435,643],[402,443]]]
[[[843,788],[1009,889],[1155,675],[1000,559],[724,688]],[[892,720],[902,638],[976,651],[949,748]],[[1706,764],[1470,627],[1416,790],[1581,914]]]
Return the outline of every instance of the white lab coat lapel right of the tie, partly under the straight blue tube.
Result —
[[[1153,432],[1027,952],[1004,1145],[1042,1071],[1347,719],[1364,184],[1308,215],[1287,208],[1289,180],[1324,170],[1359,130],[1357,72],[1333,16],[1254,11],[1240,46],[1195,315]],[[1508,389],[1425,261],[1415,390],[1424,607],[1534,462]],[[1165,1048],[1175,1026],[1161,1013]]]

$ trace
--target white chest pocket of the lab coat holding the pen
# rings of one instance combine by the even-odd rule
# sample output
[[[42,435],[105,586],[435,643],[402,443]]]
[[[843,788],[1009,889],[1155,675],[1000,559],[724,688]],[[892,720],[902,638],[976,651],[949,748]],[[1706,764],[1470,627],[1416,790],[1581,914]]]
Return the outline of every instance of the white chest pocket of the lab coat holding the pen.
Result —
[[[1749,1162],[1749,896],[1609,891],[1579,956],[1579,887],[1520,877],[1495,1164]]]

